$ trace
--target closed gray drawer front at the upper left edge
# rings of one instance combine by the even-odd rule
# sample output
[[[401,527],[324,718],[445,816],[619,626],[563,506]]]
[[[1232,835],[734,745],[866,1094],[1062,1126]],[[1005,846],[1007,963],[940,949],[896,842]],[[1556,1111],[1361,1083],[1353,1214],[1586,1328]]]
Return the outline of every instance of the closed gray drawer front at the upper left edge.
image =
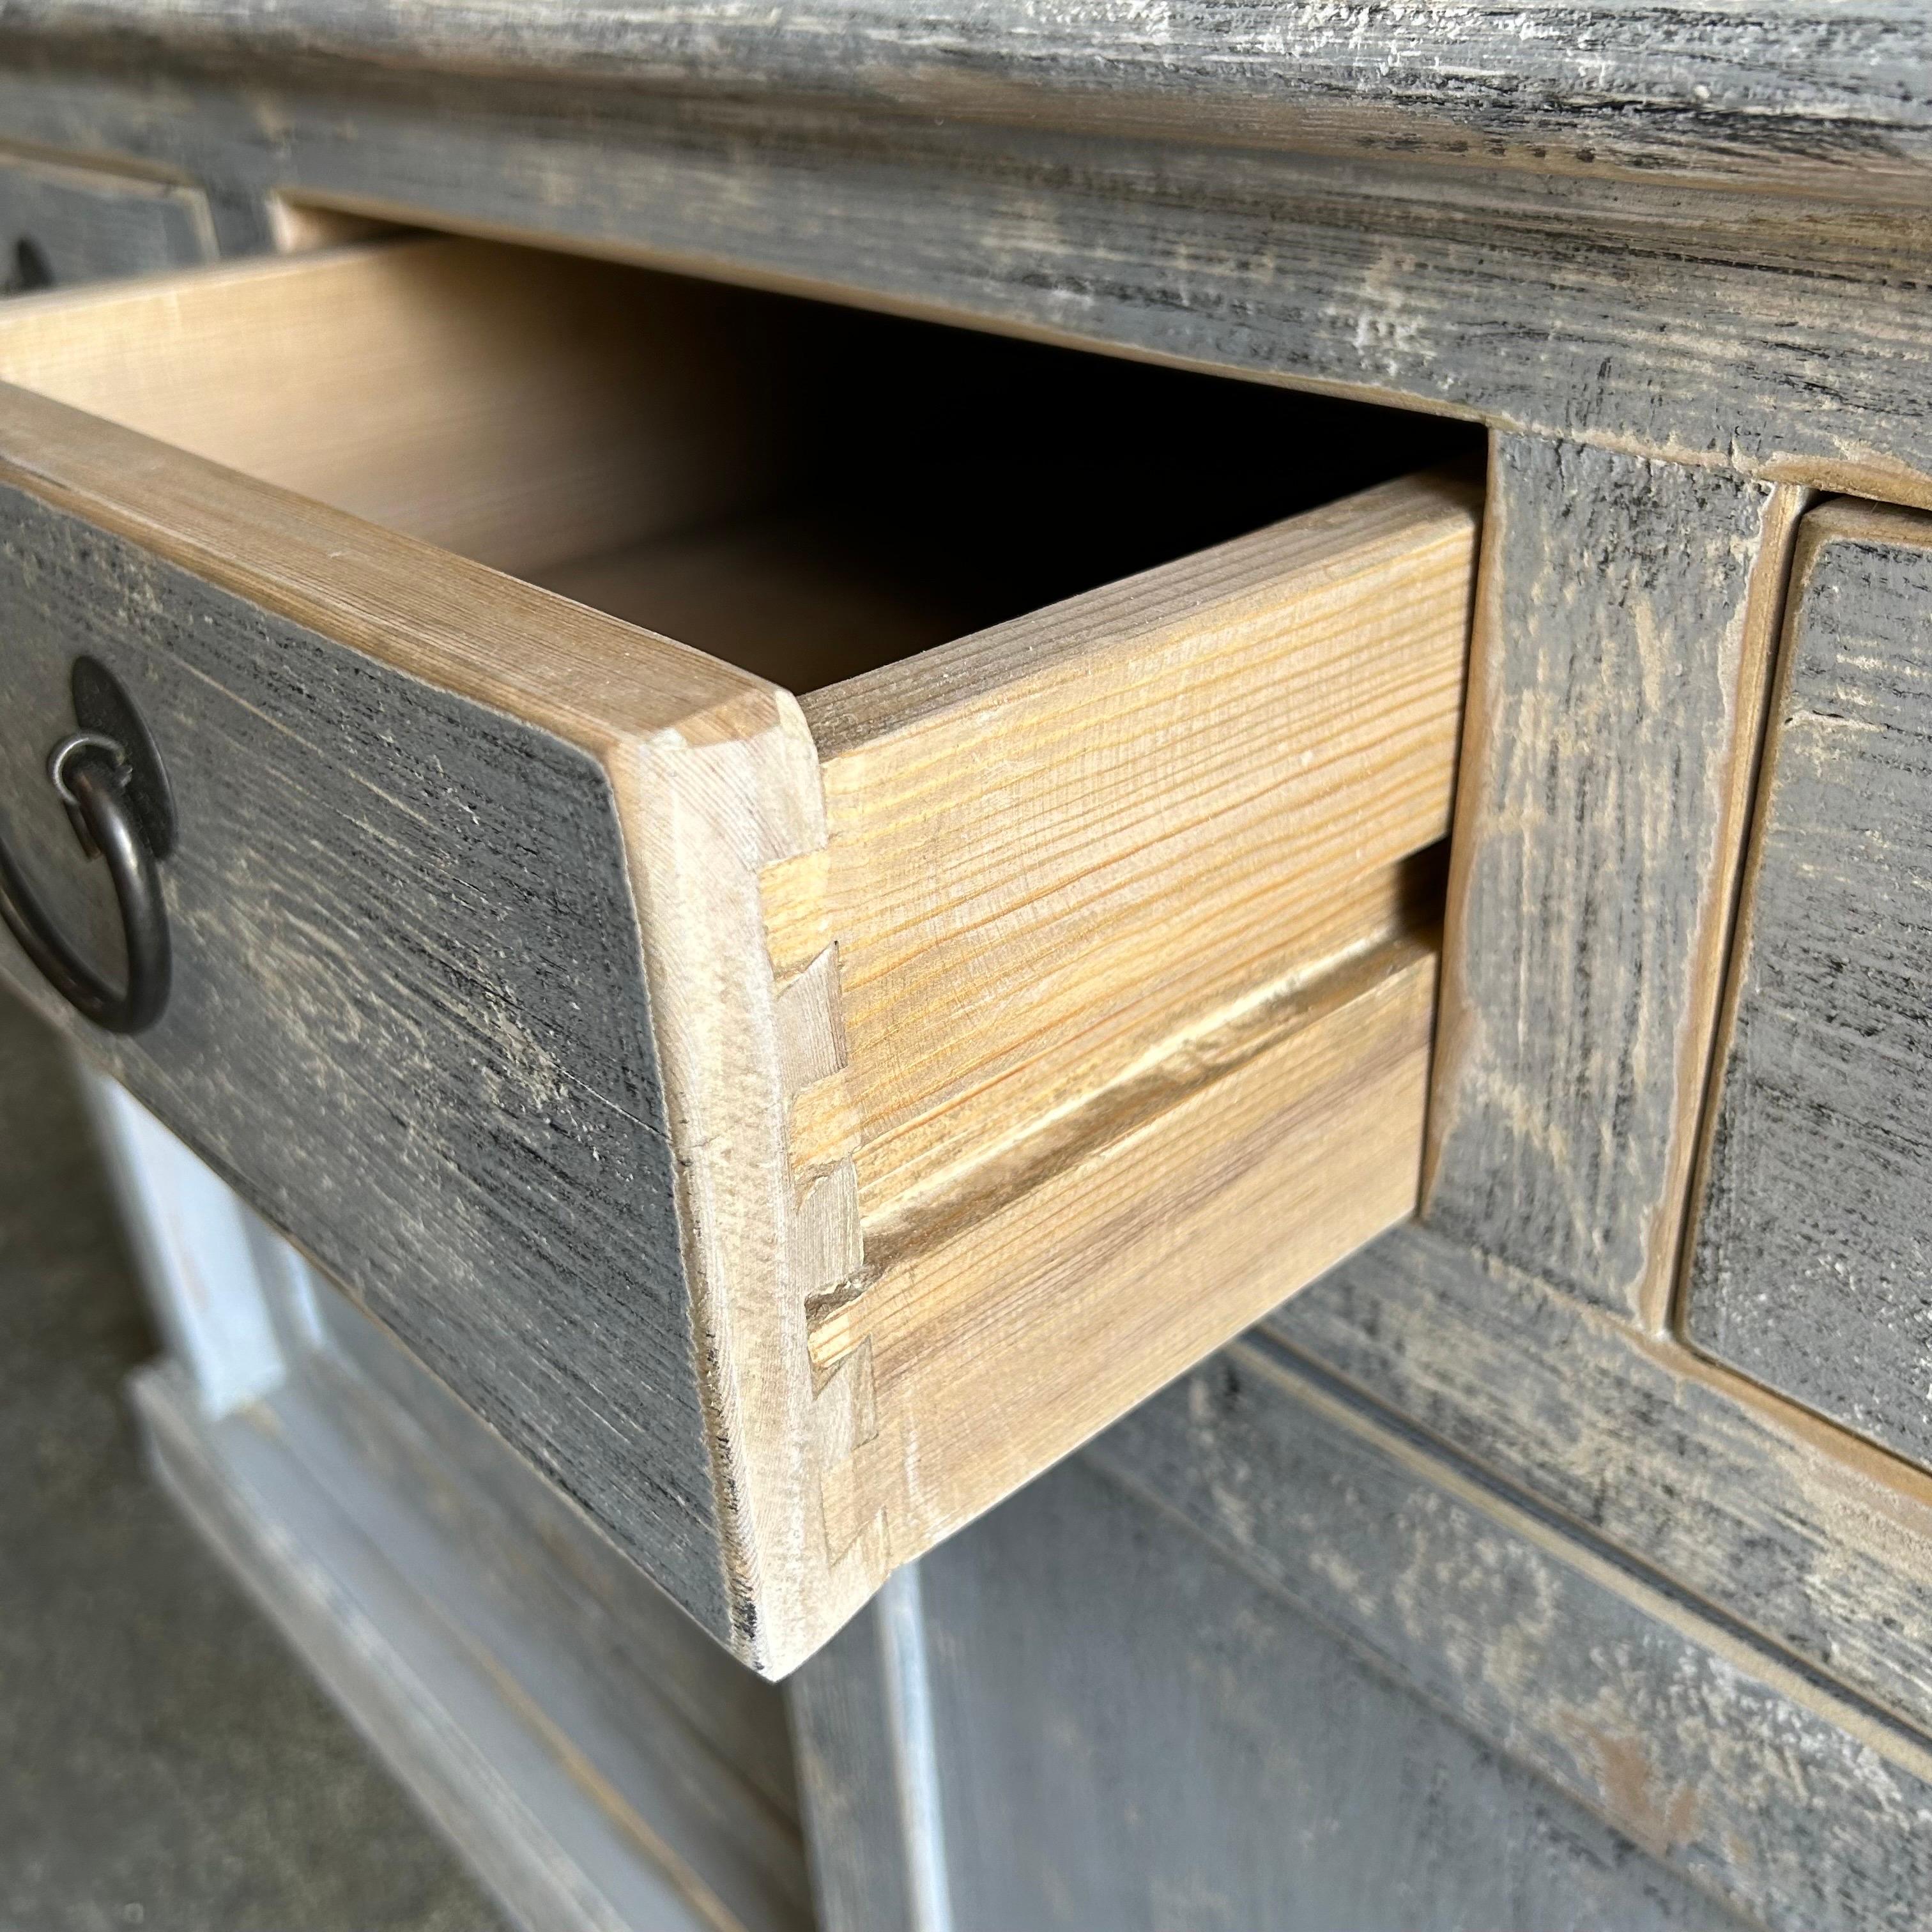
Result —
[[[199,187],[0,156],[0,282],[8,294],[156,274],[214,259]]]

